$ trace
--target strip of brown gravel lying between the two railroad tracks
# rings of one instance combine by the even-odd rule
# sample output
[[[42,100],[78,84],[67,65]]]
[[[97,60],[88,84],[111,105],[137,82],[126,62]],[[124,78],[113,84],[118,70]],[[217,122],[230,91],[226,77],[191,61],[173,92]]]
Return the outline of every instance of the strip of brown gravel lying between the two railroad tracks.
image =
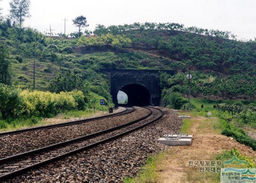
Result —
[[[0,137],[0,158],[52,145],[103,129],[108,129],[110,127],[133,121],[148,114],[147,109],[140,107],[135,107],[135,109],[136,110],[132,113],[116,117],[99,119],[77,125],[43,129],[39,131],[28,131],[16,135]]]

